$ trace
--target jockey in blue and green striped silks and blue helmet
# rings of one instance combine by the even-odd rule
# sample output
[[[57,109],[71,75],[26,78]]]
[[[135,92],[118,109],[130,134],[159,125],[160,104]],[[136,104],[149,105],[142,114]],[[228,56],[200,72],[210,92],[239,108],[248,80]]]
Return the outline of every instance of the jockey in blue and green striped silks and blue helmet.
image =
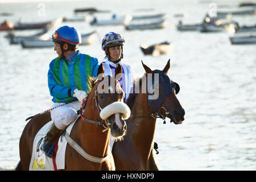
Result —
[[[51,39],[58,57],[51,61],[48,72],[48,86],[52,101],[51,125],[43,140],[41,150],[50,158],[54,155],[54,140],[59,133],[77,118],[77,110],[90,90],[89,77],[97,77],[98,59],[78,51],[81,35],[74,27],[58,28]],[[70,102],[69,104],[57,107]]]

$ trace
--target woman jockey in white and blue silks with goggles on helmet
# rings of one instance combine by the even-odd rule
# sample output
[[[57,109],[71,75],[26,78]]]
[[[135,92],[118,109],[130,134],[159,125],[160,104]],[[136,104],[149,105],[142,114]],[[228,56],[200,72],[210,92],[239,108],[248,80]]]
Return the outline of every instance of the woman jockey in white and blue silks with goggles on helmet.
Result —
[[[125,92],[125,98],[123,102],[127,101],[129,93],[133,88],[134,73],[130,65],[122,63],[123,58],[123,45],[125,39],[120,34],[115,32],[107,33],[102,39],[102,50],[105,51],[105,58],[102,60],[103,67],[105,69],[105,75],[114,76],[115,69],[118,64],[122,66],[122,77],[118,80],[121,88]]]

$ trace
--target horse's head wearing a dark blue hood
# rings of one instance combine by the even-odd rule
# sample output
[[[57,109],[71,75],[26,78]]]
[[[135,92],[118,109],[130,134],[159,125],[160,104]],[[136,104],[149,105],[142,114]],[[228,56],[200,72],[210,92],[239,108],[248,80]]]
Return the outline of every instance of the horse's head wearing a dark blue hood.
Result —
[[[143,62],[142,65],[147,76],[147,103],[150,109],[155,113],[160,113],[163,117],[170,118],[175,124],[182,123],[185,110],[176,97],[180,88],[167,76],[170,60],[163,71],[157,69],[151,71]]]

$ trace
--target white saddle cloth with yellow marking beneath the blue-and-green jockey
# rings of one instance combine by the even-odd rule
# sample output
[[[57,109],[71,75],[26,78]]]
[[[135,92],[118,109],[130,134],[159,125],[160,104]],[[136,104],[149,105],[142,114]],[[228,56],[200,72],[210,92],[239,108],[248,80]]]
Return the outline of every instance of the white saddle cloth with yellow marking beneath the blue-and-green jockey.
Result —
[[[77,119],[79,116],[77,117]],[[72,122],[66,129],[66,133],[70,135],[70,131],[72,127],[74,126],[74,123],[77,121],[75,119],[74,122]],[[46,136],[47,132],[50,129],[51,124],[53,121],[49,121],[45,124],[35,135],[35,139],[33,142],[33,151],[32,156],[30,160],[29,170],[30,171],[54,171],[59,169],[65,169],[65,152],[66,152],[66,146],[67,146],[67,140],[65,137],[59,137],[57,146],[55,148],[57,149],[56,155],[53,156],[53,158],[49,158],[46,156],[41,148],[41,145],[43,144],[43,138]],[[110,150],[113,147],[114,144],[114,137],[110,137]],[[78,154],[79,155],[79,154]]]

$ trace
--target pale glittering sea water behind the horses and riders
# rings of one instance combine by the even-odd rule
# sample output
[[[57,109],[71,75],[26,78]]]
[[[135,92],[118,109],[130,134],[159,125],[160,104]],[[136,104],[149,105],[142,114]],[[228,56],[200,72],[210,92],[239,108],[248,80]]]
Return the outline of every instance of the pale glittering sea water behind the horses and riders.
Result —
[[[255,171],[256,169],[256,44],[232,45],[231,32],[180,32],[184,24],[201,23],[206,13],[243,10],[243,1],[209,0],[86,0],[86,1],[0,1],[0,22],[45,22],[58,17],[72,18],[75,9],[94,7],[107,10],[93,14],[110,19],[113,14],[166,14],[165,28],[126,30],[123,25],[91,26],[89,22],[62,22],[81,34],[96,30],[82,53],[105,57],[103,36],[110,31],[125,38],[123,63],[130,64],[135,77],[145,73],[141,60],[151,69],[163,69],[170,59],[168,76],[181,88],[177,98],[185,109],[181,125],[163,124],[157,119],[155,142],[158,167],[162,171]],[[256,3],[256,1],[251,1]],[[85,14],[83,14],[85,15]],[[242,25],[256,24],[256,15],[234,15]],[[54,32],[58,27],[50,29]],[[40,30],[15,31],[33,35]],[[50,48],[22,48],[11,45],[0,31],[0,169],[13,170],[19,162],[19,138],[26,118],[50,109],[47,87],[49,63],[57,53]],[[50,35],[49,35],[50,36]],[[141,44],[171,42],[170,55],[143,55]],[[145,133],[146,135],[146,133]]]

